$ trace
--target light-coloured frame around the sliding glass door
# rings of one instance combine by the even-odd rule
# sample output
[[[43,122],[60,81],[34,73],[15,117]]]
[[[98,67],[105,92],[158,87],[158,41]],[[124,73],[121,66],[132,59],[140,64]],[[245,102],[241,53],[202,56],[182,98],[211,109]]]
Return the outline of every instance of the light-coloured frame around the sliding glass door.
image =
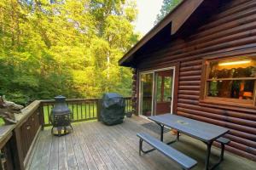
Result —
[[[174,92],[175,92],[175,88],[176,88],[176,79],[177,79],[177,69],[178,66],[177,65],[173,65],[173,66],[169,66],[169,67],[165,67],[165,68],[159,68],[159,69],[152,69],[152,70],[148,70],[148,71],[139,71],[139,80],[138,80],[138,115],[139,116],[143,116],[142,115],[142,89],[141,89],[141,77],[143,74],[148,74],[148,73],[152,73],[153,74],[153,89],[152,89],[152,105],[151,105],[151,116],[153,116],[155,114],[155,109],[156,109],[156,102],[155,102],[155,94],[156,94],[156,89],[155,89],[155,72],[156,71],[168,71],[168,70],[172,70],[173,71],[173,81],[172,81],[172,102],[171,102],[171,111],[170,113],[173,114],[174,112]],[[146,117],[146,116],[143,116]]]

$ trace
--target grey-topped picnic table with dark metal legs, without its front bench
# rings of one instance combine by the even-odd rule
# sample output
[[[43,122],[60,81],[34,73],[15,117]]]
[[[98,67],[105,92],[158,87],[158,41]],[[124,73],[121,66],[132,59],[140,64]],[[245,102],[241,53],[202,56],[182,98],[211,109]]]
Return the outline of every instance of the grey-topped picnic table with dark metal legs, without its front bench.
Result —
[[[192,138],[199,139],[203,143],[207,144],[207,157],[205,163],[206,170],[209,169],[209,160],[213,141],[229,132],[229,129],[224,127],[218,127],[207,122],[200,122],[183,116],[172,115],[170,113],[160,116],[149,116],[148,119],[160,125],[161,141],[163,141],[164,127],[171,127],[177,130],[177,140],[179,138],[179,133],[183,133]],[[172,144],[177,140],[174,140],[168,144]],[[213,167],[217,167],[220,161],[223,160],[223,152],[224,150],[222,150],[218,163],[216,163]]]

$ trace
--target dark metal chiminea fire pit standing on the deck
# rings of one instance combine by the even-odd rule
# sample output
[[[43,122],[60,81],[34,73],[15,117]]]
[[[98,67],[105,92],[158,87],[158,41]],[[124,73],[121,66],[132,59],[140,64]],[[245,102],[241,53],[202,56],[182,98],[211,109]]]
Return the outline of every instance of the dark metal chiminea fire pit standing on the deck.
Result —
[[[73,130],[71,126],[71,111],[67,107],[65,100],[66,98],[61,95],[55,97],[55,106],[50,114],[50,122],[53,125],[51,133],[59,136],[70,133]],[[57,133],[55,133],[55,129]]]

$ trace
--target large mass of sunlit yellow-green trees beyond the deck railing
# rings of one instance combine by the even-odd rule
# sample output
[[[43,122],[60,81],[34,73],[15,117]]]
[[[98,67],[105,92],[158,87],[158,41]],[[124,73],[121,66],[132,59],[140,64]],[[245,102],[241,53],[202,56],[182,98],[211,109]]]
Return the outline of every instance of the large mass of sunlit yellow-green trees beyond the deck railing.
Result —
[[[131,95],[118,60],[137,42],[133,0],[2,0],[0,94],[34,99]]]

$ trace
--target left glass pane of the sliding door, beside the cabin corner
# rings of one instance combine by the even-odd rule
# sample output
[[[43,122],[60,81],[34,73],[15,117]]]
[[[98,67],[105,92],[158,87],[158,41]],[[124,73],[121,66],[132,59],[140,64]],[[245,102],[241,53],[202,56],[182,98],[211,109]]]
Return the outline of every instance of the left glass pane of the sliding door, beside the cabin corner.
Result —
[[[153,77],[154,73],[143,73],[141,75],[140,113],[143,116],[152,115]]]

